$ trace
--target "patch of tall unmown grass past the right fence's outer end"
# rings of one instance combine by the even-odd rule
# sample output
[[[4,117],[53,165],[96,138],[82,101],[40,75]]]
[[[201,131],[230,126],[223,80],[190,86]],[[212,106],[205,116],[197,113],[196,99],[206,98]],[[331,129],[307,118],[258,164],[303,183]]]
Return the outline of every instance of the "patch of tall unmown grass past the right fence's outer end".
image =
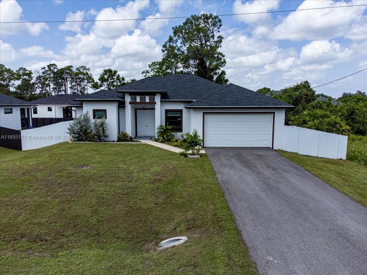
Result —
[[[346,159],[367,165],[367,136],[348,136]]]

